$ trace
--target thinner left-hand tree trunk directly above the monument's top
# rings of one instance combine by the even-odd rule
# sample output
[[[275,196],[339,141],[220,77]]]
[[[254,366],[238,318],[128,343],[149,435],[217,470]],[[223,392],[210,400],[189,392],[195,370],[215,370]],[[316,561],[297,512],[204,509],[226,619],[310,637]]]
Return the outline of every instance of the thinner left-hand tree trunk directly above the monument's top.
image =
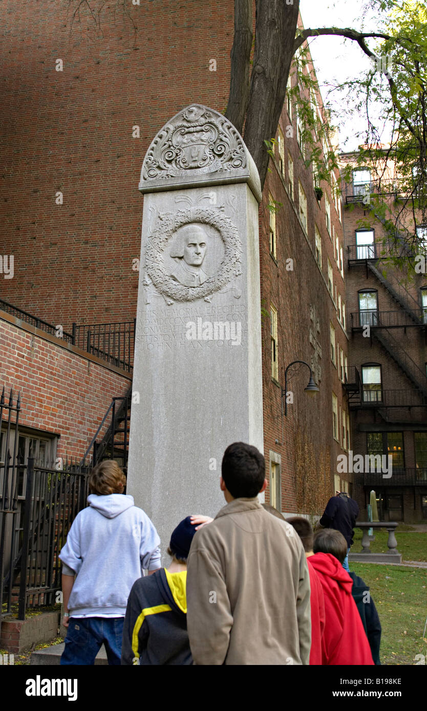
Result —
[[[242,133],[248,109],[252,48],[252,0],[234,0],[234,40],[231,48],[230,94],[226,117]]]

